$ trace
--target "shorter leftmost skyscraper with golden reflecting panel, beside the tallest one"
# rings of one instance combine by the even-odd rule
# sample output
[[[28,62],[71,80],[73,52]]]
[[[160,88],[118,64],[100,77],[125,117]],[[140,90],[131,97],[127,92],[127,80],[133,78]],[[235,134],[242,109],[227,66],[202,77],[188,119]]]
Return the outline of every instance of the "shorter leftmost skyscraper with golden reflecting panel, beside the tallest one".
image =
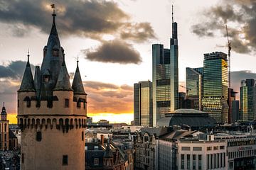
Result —
[[[151,81],[134,84],[134,124],[153,126],[153,97]]]

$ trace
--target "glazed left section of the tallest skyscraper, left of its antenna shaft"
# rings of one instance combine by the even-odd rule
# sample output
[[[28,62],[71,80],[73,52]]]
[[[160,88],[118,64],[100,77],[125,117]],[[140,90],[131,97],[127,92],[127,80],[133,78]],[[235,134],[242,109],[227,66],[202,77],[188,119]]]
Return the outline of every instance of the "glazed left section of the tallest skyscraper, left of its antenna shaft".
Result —
[[[171,65],[170,50],[164,45],[152,45],[152,87],[153,87],[153,125],[164,113],[171,111]]]

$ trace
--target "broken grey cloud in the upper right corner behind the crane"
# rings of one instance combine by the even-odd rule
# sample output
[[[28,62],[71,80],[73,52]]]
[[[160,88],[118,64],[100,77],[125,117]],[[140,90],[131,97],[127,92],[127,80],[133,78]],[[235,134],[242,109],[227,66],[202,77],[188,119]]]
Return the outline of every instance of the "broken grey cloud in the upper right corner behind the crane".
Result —
[[[206,9],[203,15],[206,18],[191,27],[193,33],[200,37],[226,36],[227,23],[232,50],[256,52],[256,1],[220,0],[217,6]]]

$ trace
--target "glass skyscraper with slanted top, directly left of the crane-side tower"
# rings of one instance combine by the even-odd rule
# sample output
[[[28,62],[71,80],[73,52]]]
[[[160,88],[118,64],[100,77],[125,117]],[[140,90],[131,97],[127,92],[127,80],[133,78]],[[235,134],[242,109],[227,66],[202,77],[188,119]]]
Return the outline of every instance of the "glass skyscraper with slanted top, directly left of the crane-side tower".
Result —
[[[203,111],[203,67],[186,68],[186,98],[193,101],[193,108]]]

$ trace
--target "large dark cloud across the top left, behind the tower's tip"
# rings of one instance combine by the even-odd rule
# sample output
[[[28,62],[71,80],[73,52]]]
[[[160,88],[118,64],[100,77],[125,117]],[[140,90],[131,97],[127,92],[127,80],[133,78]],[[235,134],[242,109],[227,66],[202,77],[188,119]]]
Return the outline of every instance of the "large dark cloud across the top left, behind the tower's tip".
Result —
[[[28,26],[49,33],[52,20],[50,4],[48,0],[40,0],[36,3],[34,0],[0,0],[0,22],[16,25],[12,29],[16,36],[29,33],[31,30]],[[130,26],[125,29],[125,39],[143,42],[154,38],[154,30],[149,23],[131,23],[127,13],[124,13],[114,1],[58,0],[55,1],[55,6],[58,14],[57,27],[62,35],[82,35],[101,40],[102,35],[111,34],[120,38],[122,30]],[[135,26],[138,31],[131,26]],[[148,33],[141,33],[140,30]],[[131,32],[136,33],[138,37],[134,37]]]

